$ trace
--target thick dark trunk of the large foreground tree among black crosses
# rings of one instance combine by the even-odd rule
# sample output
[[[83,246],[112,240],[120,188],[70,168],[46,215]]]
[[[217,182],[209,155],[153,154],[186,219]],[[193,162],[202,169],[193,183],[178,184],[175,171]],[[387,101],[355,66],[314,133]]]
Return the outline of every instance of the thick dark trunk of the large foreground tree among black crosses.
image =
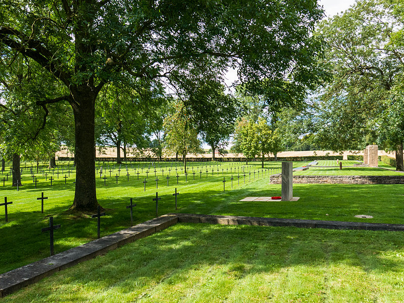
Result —
[[[77,103],[71,103],[75,122],[76,188],[72,208],[95,211],[94,107],[96,93],[82,86],[75,94]]]

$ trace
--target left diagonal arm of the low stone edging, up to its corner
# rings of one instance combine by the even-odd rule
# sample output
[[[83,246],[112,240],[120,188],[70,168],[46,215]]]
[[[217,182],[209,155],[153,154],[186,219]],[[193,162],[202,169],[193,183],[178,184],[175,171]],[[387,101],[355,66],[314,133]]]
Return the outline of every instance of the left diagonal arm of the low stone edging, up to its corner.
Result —
[[[164,215],[1,274],[0,297],[177,222],[178,216]]]

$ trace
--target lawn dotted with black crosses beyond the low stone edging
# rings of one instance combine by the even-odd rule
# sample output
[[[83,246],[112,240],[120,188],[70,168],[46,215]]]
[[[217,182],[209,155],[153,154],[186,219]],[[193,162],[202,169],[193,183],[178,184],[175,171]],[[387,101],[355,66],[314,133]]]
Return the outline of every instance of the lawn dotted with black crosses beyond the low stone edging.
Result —
[[[279,168],[278,163],[278,168]],[[196,165],[196,164],[195,164]],[[208,163],[209,165],[209,163]],[[270,218],[314,219],[332,221],[360,221],[372,223],[404,224],[404,185],[345,185],[345,184],[295,184],[294,196],[299,196],[297,202],[241,202],[247,196],[279,196],[281,185],[269,185],[269,171],[267,176],[258,177],[259,163],[254,163],[251,175],[240,175],[238,179],[233,175],[233,189],[231,189],[230,171],[226,174],[226,168],[230,164],[223,164],[219,174],[214,171],[201,177],[190,173],[185,181],[185,176],[180,174],[179,184],[171,172],[170,185],[167,186],[166,173],[162,176],[160,169],[159,188],[156,189],[156,181],[153,175],[148,176],[146,191],[143,191],[145,172],[137,175],[129,171],[130,178],[124,174],[119,177],[118,184],[114,177],[97,180],[98,202],[105,208],[107,216],[101,218],[101,236],[125,229],[130,226],[129,205],[130,198],[137,206],[133,209],[133,224],[138,224],[156,217],[156,204],[152,200],[159,193],[159,214],[167,213],[193,213],[212,215],[236,215]],[[241,165],[243,164],[233,164]],[[268,167],[276,167],[276,164],[267,164]],[[209,168],[209,166],[208,166]],[[226,191],[223,192],[224,169],[226,178]],[[234,169],[234,168],[233,168]],[[256,180],[254,174],[256,169]],[[190,170],[192,171],[192,170]],[[276,172],[273,169],[272,172]],[[388,171],[386,171],[388,172]],[[234,171],[233,171],[234,173]],[[250,178],[250,179],[249,179]],[[11,179],[11,178],[9,178]],[[65,185],[64,179],[57,179],[51,187],[45,177],[38,174],[38,188],[35,189],[30,181],[30,174],[24,174],[20,191],[11,189],[10,182],[6,181],[6,187],[0,185],[3,196],[9,205],[9,222],[4,221],[4,207],[0,207],[0,273],[40,260],[49,255],[49,234],[41,233],[41,228],[48,226],[49,217],[54,217],[55,224],[62,227],[55,231],[55,253],[78,246],[96,238],[96,219],[91,219],[91,213],[82,214],[69,211],[74,197],[74,173],[70,175]],[[178,210],[174,207],[173,193],[175,188],[180,192],[178,196]],[[44,200],[44,213],[40,212],[40,201],[36,198],[41,192],[48,199]],[[3,198],[2,198],[3,199]],[[373,219],[359,219],[355,215],[371,215]]]

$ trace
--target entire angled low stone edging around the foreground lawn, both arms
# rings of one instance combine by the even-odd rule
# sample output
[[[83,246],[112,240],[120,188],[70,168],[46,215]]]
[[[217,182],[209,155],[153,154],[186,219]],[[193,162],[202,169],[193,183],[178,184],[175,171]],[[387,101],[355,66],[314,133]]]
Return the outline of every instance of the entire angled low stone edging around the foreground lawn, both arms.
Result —
[[[58,271],[72,267],[80,262],[93,259],[96,256],[103,255],[122,245],[175,225],[178,222],[221,225],[293,226],[302,228],[404,231],[404,225],[401,224],[167,214],[1,274],[0,297],[6,296],[29,284],[38,282]]]

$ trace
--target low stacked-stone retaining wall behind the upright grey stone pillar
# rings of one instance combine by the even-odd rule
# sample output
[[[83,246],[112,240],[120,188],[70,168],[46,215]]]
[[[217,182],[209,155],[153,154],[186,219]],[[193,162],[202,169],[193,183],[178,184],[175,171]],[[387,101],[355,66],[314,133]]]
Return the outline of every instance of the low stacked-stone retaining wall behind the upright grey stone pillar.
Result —
[[[273,175],[271,184],[281,184],[281,175]],[[404,176],[293,176],[293,183],[306,184],[404,184]]]

